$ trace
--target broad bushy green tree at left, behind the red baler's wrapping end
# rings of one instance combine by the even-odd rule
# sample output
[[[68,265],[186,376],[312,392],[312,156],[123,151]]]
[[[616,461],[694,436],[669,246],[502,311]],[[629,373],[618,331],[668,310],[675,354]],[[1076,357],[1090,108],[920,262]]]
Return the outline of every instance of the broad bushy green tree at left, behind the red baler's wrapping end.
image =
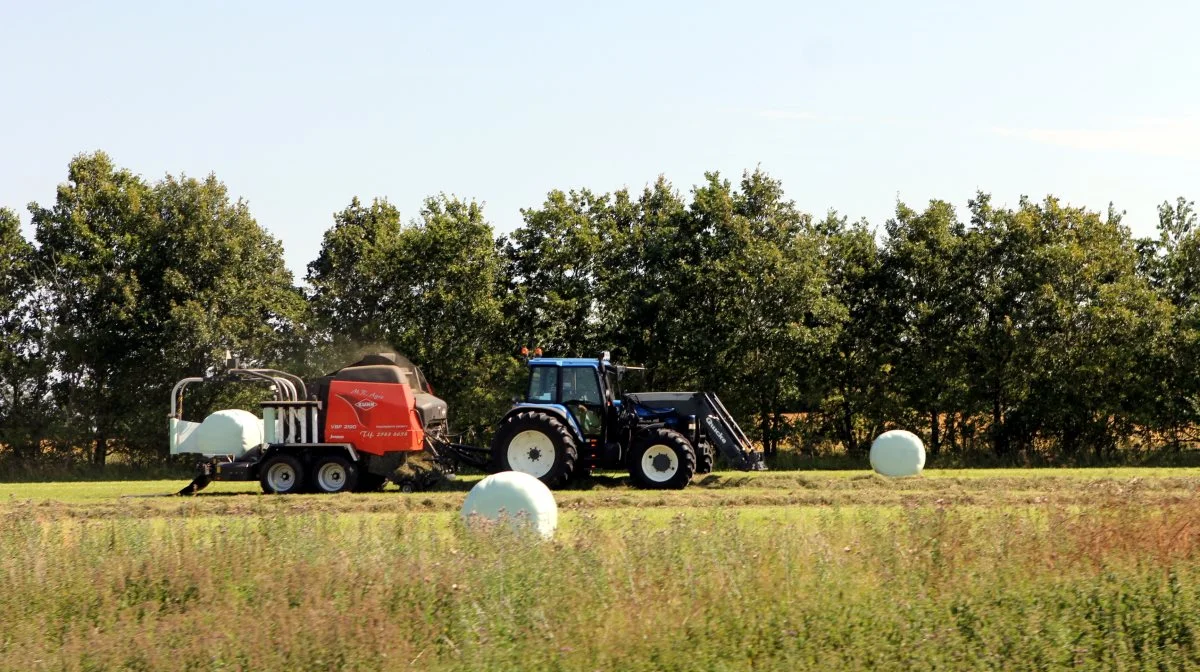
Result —
[[[162,454],[175,379],[282,350],[302,304],[282,248],[215,178],[148,185],[103,152],[76,157],[50,208],[31,204],[52,305],[49,348],[70,445]]]

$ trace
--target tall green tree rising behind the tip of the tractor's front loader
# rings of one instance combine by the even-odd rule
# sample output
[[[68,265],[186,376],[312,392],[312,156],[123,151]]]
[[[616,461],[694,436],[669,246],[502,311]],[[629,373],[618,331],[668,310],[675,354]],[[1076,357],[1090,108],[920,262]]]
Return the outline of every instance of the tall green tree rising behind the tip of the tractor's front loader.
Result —
[[[712,317],[689,330],[702,338],[691,356],[706,389],[732,392],[734,408],[758,419],[774,455],[784,412],[810,396],[811,380],[800,373],[824,350],[840,316],[821,239],[811,217],[762,170],[745,173],[736,191],[709,175],[691,214],[707,234],[696,294],[701,314]]]

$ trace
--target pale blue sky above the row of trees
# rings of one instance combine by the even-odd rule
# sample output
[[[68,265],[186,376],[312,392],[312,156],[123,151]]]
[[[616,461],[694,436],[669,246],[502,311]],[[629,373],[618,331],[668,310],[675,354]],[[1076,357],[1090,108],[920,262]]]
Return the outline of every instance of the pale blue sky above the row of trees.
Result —
[[[912,6],[906,6],[912,5]],[[102,149],[215,173],[302,277],[331,214],[440,191],[498,232],[551,188],[762,166],[800,208],[1200,197],[1192,2],[0,0],[0,205]]]

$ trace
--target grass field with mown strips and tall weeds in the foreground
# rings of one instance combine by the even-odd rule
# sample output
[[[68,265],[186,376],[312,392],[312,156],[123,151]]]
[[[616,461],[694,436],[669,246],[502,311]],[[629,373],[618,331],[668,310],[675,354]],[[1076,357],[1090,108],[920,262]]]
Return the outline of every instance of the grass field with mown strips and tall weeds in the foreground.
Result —
[[[1200,666],[1200,470],[718,473],[560,491],[0,484],[4,670]]]

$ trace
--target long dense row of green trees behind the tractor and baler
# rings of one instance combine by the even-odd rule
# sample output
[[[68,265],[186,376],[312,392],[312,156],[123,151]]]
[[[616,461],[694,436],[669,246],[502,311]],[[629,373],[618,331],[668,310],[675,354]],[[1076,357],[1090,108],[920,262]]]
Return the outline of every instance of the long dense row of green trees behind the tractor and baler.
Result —
[[[314,374],[388,347],[484,439],[521,346],[644,365],[630,384],[710,389],[768,452],[865,451],[918,431],[1002,461],[1181,450],[1200,426],[1200,230],[1158,236],[1048,197],[967,211],[899,203],[875,229],[799,211],[762,170],[612,193],[551,191],[497,235],[439,194],[336,212],[301,286],[216,178],[148,181],[76,157],[34,240],[0,209],[0,451],[166,452],[179,378],[244,360]],[[217,403],[216,398],[211,400]]]

